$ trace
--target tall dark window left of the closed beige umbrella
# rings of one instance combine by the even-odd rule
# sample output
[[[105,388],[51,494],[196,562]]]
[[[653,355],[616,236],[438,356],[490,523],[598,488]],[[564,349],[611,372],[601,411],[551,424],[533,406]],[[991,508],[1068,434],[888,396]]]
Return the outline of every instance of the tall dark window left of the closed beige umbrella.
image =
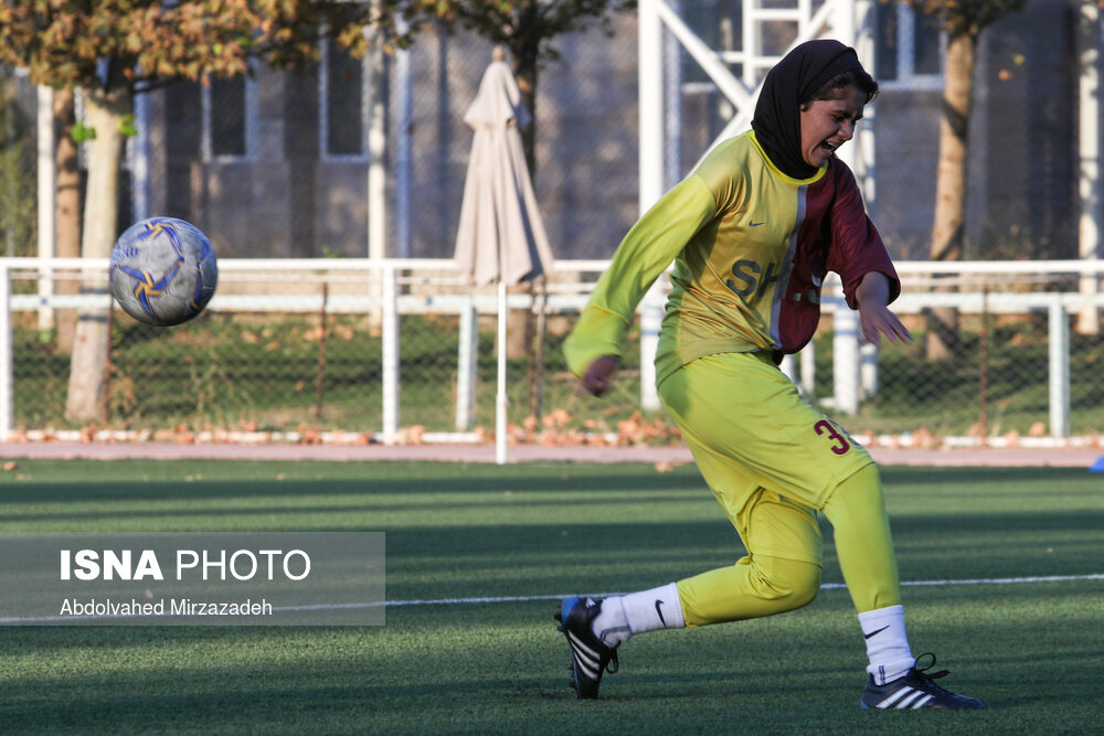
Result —
[[[320,72],[322,157],[363,159],[368,151],[364,60],[326,43]]]

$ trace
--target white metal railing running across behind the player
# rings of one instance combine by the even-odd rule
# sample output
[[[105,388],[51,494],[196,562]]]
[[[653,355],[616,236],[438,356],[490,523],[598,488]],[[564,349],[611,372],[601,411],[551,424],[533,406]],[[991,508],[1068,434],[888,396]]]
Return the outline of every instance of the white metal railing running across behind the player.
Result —
[[[577,312],[585,305],[593,282],[584,275],[604,271],[608,260],[562,260],[550,271],[555,288],[550,289],[548,310],[550,312]],[[458,363],[457,363],[457,429],[470,426],[474,365],[476,358],[475,317],[478,313],[493,313],[499,308],[497,297],[488,289],[470,289],[464,294],[426,292],[434,284],[463,286],[455,275],[450,259],[222,259],[220,275],[224,281],[247,280],[245,275],[264,273],[266,277],[284,275],[296,282],[310,279],[340,282],[342,279],[355,282],[374,282],[379,289],[365,289],[363,295],[244,295],[216,294],[208,308],[213,311],[317,311],[325,306],[328,311],[382,314],[383,341],[383,428],[384,441],[393,441],[400,436],[399,386],[401,340],[399,317],[403,313],[437,312],[455,313],[461,317]],[[49,258],[0,258],[0,441],[11,437],[14,426],[14,365],[12,346],[12,314],[20,311],[47,310],[57,308],[104,308],[104,294],[56,295],[52,292],[15,295],[12,291],[12,275],[39,278],[42,274],[57,270],[74,270],[85,274],[106,274],[107,259],[49,259]],[[1083,313],[1086,297],[1079,291],[1001,291],[1000,285],[1008,277],[1019,279],[1054,279],[1061,276],[1100,278],[1104,275],[1104,260],[1021,260],[1021,262],[960,262],[926,263],[902,262],[898,264],[902,281],[907,285],[957,284],[968,291],[932,292],[905,291],[893,305],[901,314],[920,313],[932,307],[954,307],[962,313],[1026,313],[1042,311],[1049,319],[1049,384],[1050,384],[1050,434],[1065,437],[1070,427],[1070,375],[1069,375],[1069,316]],[[360,274],[357,276],[357,274]],[[422,276],[418,276],[422,274]],[[447,276],[440,276],[440,275]],[[954,275],[957,278],[945,277]],[[944,277],[934,279],[934,277]],[[436,280],[435,280],[436,279]],[[105,277],[106,282],[106,277]],[[661,279],[659,284],[662,284]],[[413,294],[401,294],[403,285],[421,285]],[[967,286],[972,285],[972,286]],[[658,341],[661,320],[662,289],[652,290],[651,296],[640,307],[641,324],[641,405],[658,406],[655,402],[652,359]],[[532,300],[528,295],[510,295],[511,309],[528,309]],[[1089,305],[1094,310],[1104,307],[1104,294],[1097,291]],[[660,311],[656,311],[657,307]],[[835,322],[834,343],[834,396],[820,398],[831,403],[841,414],[853,414],[864,396],[877,393],[877,351],[860,345],[856,313],[843,303],[838,282],[826,285],[822,308],[832,316]],[[799,373],[796,362],[800,361]],[[810,348],[796,360],[787,360],[783,370],[795,383],[811,392],[815,380],[813,352]],[[655,403],[654,403],[655,402]]]

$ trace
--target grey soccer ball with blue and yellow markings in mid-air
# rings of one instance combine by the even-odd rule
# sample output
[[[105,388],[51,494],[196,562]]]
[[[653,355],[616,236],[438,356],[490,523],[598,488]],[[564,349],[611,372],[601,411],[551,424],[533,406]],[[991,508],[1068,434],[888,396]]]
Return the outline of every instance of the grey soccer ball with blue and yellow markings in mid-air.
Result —
[[[112,249],[112,294],[139,322],[170,327],[203,310],[219,281],[211,241],[195,225],[150,217],[127,228]]]

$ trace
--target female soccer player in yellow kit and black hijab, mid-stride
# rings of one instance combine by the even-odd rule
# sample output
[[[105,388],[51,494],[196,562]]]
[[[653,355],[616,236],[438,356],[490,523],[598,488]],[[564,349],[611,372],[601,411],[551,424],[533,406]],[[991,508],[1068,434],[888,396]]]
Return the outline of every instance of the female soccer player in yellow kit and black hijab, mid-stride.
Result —
[[[828,270],[869,341],[910,339],[888,309],[896,271],[836,158],[877,94],[854,50],[829,40],[794,49],[767,74],[752,130],[718,146],[633,226],[565,343],[584,388],[602,395],[637,305],[675,260],[656,355],[660,399],[747,548],[735,565],[659,588],[562,601],[578,698],[597,697],[617,648],[637,633],[811,601],[819,511],[835,529],[870,660],[861,705],[985,707],[933,682],[945,672],[917,669],[878,469],[777,367],[813,337]]]

